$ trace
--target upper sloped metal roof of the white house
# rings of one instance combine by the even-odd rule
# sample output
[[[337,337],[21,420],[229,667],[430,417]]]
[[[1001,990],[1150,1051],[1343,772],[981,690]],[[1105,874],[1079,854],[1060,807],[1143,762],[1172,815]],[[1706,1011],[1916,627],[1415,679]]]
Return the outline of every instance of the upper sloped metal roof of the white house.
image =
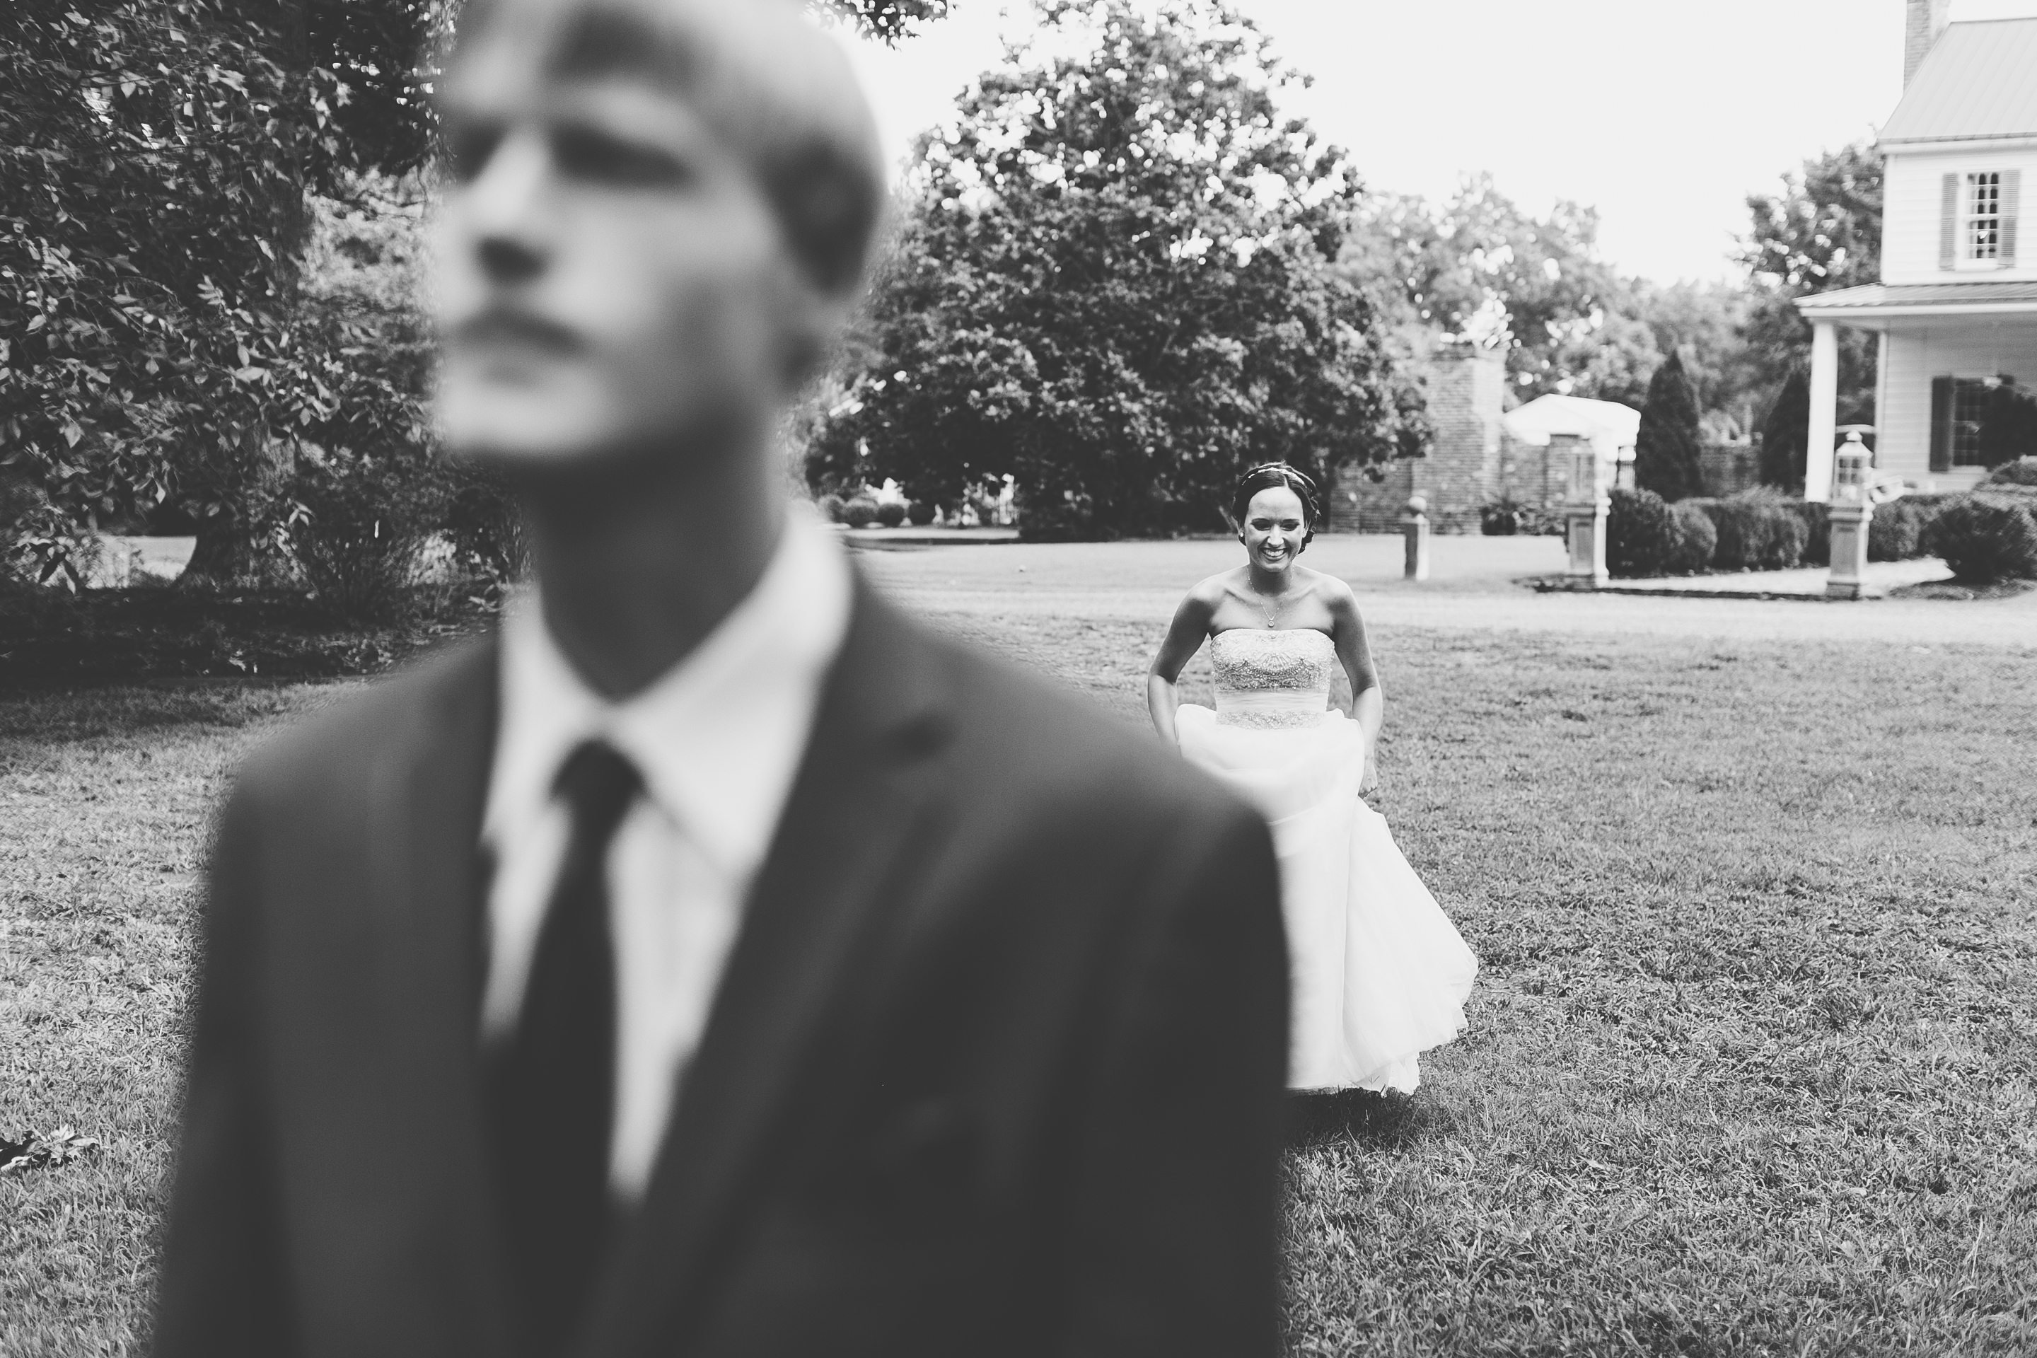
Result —
[[[1880,145],[2037,136],[2037,18],[1949,24],[1882,124]]]

